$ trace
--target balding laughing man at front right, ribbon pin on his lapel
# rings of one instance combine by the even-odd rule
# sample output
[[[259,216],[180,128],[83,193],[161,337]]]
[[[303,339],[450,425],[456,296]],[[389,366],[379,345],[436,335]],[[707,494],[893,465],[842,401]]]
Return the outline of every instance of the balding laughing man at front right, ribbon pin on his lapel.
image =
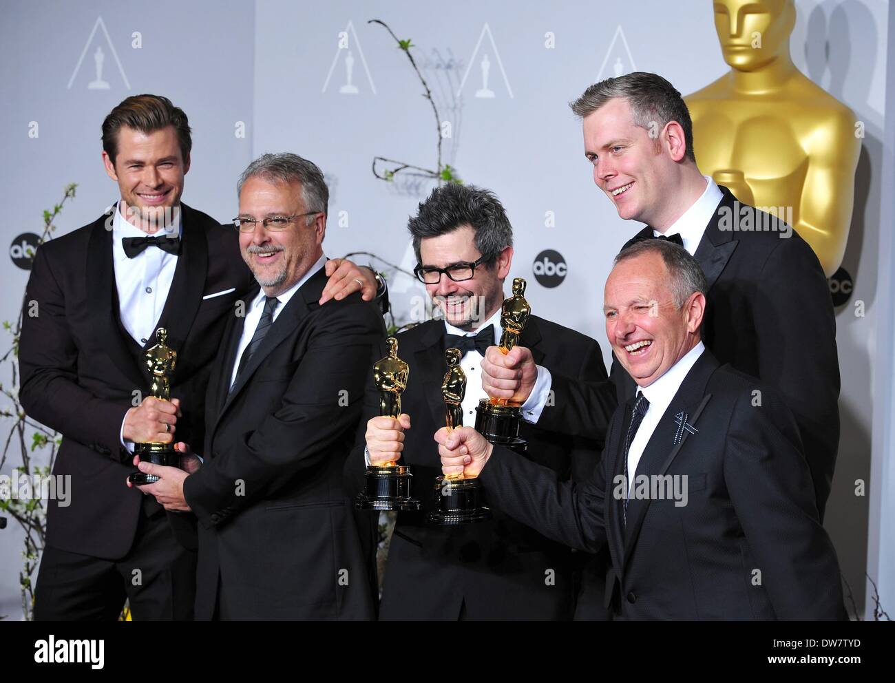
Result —
[[[707,289],[676,244],[642,241],[606,282],[606,332],[635,397],[589,482],[562,482],[471,428],[436,434],[444,474],[558,542],[608,546],[618,619],[844,619],[797,425],[780,393],[703,346]]]

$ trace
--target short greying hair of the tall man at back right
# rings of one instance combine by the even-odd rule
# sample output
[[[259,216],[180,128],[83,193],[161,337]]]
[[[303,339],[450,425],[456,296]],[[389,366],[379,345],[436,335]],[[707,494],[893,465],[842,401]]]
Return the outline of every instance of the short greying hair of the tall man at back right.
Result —
[[[569,102],[575,115],[584,118],[609,102],[625,98],[634,124],[650,130],[651,124],[664,128],[669,121],[677,121],[684,129],[686,156],[695,163],[693,151],[693,121],[680,92],[657,73],[626,73],[618,78],[608,78],[594,83],[584,90],[581,97]],[[655,139],[658,142],[658,139]]]

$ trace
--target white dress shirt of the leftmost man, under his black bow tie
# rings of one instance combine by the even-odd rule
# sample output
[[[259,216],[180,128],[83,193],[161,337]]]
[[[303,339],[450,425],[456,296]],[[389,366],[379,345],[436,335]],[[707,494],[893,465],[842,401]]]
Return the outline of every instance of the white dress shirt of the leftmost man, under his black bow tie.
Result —
[[[151,235],[139,227],[132,226],[115,209],[112,219],[112,260],[115,267],[115,288],[118,290],[118,307],[121,322],[127,333],[140,346],[146,344],[156,331],[162,317],[178,257],[163,252],[158,247],[149,246],[132,259],[124,253],[124,237],[155,237],[163,240],[169,236],[181,236],[180,211],[174,212],[175,224],[171,231],[159,230]]]

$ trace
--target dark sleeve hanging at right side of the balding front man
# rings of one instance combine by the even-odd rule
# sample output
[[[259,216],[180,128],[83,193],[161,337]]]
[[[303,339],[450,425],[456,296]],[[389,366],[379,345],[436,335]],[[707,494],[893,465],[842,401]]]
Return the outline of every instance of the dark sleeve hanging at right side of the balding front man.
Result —
[[[724,483],[778,619],[843,619],[840,570],[818,522],[796,424],[763,389],[762,406],[741,397],[731,416]],[[754,577],[758,575],[752,576]]]

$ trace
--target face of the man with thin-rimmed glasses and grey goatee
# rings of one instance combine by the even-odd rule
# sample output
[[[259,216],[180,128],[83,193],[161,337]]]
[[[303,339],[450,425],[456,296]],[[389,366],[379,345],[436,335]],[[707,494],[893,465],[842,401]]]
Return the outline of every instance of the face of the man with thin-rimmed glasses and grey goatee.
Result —
[[[275,216],[295,216],[308,210],[302,185],[269,181],[253,176],[239,194],[239,218],[258,221]],[[313,222],[309,226],[308,218]],[[239,234],[243,260],[268,296],[277,296],[298,282],[323,253],[326,217],[294,218],[285,229],[272,231],[260,222],[251,233]]]

